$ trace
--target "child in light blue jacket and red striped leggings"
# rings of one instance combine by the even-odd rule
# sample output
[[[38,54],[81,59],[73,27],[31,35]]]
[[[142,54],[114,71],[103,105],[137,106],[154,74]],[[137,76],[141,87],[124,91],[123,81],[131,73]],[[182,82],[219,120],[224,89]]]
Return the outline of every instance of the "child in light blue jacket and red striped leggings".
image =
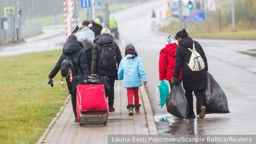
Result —
[[[118,79],[124,79],[124,87],[127,88],[128,115],[133,115],[134,107],[135,112],[140,113],[139,86],[142,86],[141,79],[144,84],[147,84],[148,79],[141,58],[138,57],[135,47],[132,44],[125,46],[125,58],[119,64]]]

